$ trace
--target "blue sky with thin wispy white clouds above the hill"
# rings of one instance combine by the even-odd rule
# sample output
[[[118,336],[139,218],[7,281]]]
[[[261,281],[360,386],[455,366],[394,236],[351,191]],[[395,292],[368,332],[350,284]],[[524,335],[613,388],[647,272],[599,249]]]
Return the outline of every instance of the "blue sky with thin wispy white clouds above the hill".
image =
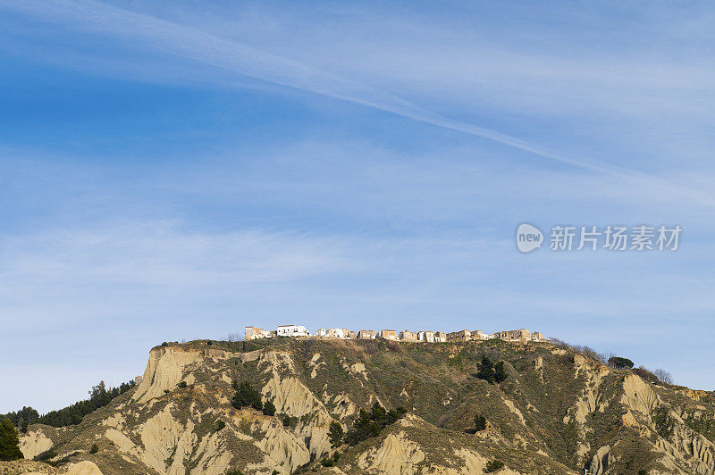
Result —
[[[526,327],[714,389],[714,17],[0,0],[0,412],[290,322]],[[525,255],[524,221],[684,231]]]

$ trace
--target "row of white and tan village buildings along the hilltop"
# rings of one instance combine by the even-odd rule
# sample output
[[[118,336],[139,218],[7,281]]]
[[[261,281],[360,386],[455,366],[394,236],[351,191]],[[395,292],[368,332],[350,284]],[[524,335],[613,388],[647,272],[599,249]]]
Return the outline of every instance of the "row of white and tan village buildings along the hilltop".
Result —
[[[307,331],[304,325],[279,325],[276,329],[265,330],[258,327],[246,327],[246,340],[273,337],[315,337],[315,338],[336,338],[336,339],[358,339],[371,340],[383,338],[390,341],[424,342],[424,343],[463,343],[472,340],[489,340],[498,338],[512,343],[526,343],[527,341],[548,341],[543,333],[527,329],[503,330],[485,334],[482,330],[469,331],[463,329],[444,333],[443,331],[410,331],[408,329],[397,332],[394,329],[361,329],[353,331],[351,329],[318,329],[313,335]]]

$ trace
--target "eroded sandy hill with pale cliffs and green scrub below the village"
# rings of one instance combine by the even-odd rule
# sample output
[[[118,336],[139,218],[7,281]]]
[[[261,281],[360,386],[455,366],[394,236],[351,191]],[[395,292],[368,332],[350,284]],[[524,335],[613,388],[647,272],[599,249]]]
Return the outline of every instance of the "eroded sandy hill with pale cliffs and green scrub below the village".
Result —
[[[504,362],[506,379],[480,378],[484,356]],[[273,401],[276,415],[233,408],[234,379]],[[21,448],[105,474],[458,475],[496,460],[500,473],[715,474],[713,401],[549,344],[193,342],[154,348],[138,387],[78,426],[31,426]],[[334,466],[321,463],[336,451],[331,423],[347,431],[375,402],[408,413],[339,447]],[[487,429],[475,432],[475,414]]]

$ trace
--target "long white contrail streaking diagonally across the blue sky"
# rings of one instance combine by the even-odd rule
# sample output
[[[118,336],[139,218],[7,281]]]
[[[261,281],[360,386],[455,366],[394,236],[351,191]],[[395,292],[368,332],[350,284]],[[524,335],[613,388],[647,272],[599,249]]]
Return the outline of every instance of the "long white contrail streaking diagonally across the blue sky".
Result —
[[[176,54],[215,67],[234,71],[282,86],[363,104],[415,121],[487,138],[507,146],[537,154],[558,162],[628,179],[644,181],[660,189],[715,206],[713,196],[659,179],[652,175],[619,167],[579,154],[569,154],[492,129],[455,121],[426,111],[415,104],[350,79],[320,71],[305,64],[268,54],[235,41],[214,37],[199,29],[165,21],[143,13],[130,12],[93,0],[0,0],[0,5],[25,12],[45,21],[70,23],[78,29],[139,41],[169,54]]]

